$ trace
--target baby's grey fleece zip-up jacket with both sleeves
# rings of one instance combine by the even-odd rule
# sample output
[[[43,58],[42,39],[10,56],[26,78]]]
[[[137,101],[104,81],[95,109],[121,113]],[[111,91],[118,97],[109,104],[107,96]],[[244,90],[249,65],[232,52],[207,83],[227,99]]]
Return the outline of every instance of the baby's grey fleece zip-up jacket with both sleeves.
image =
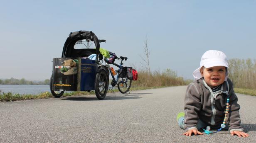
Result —
[[[226,125],[229,125],[229,132],[243,131],[240,126],[240,106],[233,88],[229,79],[221,85],[221,90],[214,93],[203,78],[190,83],[185,95],[185,130],[197,128],[199,119],[209,126],[220,127],[223,124],[228,92],[230,107]]]

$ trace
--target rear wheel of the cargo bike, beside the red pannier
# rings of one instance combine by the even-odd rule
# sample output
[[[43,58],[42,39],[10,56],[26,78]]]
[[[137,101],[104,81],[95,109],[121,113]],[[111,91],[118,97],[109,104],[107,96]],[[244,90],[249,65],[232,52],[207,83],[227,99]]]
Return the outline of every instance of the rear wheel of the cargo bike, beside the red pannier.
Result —
[[[123,72],[123,71],[122,71]],[[119,75],[122,75],[119,74]],[[129,80],[127,77],[126,78],[123,78],[123,77],[119,77],[119,80],[118,80],[118,84],[117,84],[117,87],[118,87],[118,90],[121,92],[121,93],[126,93],[130,90],[130,86],[132,85],[132,80]]]

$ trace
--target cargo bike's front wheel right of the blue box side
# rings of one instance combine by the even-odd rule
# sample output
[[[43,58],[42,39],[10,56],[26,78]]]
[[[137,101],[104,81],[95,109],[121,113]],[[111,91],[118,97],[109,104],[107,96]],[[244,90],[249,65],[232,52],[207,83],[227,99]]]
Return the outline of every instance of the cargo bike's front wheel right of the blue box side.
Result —
[[[99,100],[105,98],[108,91],[108,77],[105,70],[100,69],[95,79],[95,94]]]

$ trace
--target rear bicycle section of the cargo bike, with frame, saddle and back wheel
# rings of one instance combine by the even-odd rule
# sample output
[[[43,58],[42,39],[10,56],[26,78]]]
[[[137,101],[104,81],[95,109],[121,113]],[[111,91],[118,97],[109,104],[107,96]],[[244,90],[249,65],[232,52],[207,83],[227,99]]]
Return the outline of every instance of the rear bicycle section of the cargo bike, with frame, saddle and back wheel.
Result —
[[[109,51],[109,54],[112,56],[112,60],[113,60],[112,62],[109,62],[106,58],[104,58],[104,61],[106,62],[105,66],[108,68],[111,74],[111,77],[113,78],[113,80],[111,81],[112,87],[109,87],[108,89],[112,90],[113,87],[117,85],[118,90],[121,93],[123,94],[126,92],[130,93],[129,90],[132,84],[132,80],[127,78],[127,67],[123,67],[123,61],[124,60],[126,61],[128,58],[123,56],[120,56],[120,58],[118,58],[115,53],[112,53],[110,51]],[[121,63],[119,65],[114,63],[115,59],[121,60]],[[118,70],[113,71],[109,64],[115,65],[116,67],[118,67]],[[114,75],[116,75],[116,78]]]

